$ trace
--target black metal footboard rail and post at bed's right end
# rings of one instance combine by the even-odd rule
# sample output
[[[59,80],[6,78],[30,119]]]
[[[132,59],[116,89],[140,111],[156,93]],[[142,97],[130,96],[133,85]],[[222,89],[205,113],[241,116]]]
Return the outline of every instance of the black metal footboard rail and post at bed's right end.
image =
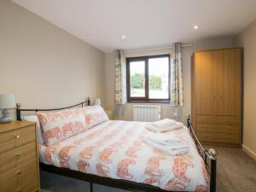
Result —
[[[198,148],[198,152],[199,154],[201,154],[201,157],[205,162],[207,172],[209,172],[210,192],[216,192],[217,152],[213,148],[207,150],[201,144],[199,139],[196,137],[189,114],[187,115],[187,126],[189,128],[189,131],[191,132],[192,137],[194,137],[196,147]],[[208,160],[210,160],[210,165],[208,165]]]

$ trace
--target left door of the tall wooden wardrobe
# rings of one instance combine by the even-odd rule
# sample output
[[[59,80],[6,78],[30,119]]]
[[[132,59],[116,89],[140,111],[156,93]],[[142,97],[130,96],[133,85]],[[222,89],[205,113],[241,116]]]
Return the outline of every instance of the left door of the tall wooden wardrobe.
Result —
[[[216,56],[212,51],[195,52],[195,113],[215,115]]]

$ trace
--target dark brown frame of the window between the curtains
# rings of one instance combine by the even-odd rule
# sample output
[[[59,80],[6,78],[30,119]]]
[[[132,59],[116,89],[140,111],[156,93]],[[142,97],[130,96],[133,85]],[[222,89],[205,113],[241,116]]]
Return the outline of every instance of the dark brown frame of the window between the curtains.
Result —
[[[154,58],[168,57],[168,98],[167,99],[150,99],[149,98],[149,77],[148,77],[148,60]],[[130,62],[144,61],[145,62],[145,96],[134,97],[131,96],[131,82],[130,82]],[[148,55],[138,57],[126,58],[126,95],[127,102],[154,102],[154,103],[170,103],[170,80],[171,80],[171,58],[170,55]]]

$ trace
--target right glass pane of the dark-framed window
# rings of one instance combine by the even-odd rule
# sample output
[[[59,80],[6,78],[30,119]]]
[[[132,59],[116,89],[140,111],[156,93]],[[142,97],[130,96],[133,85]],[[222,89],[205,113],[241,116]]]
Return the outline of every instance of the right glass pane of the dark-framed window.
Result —
[[[168,99],[169,58],[148,59],[149,99]]]

